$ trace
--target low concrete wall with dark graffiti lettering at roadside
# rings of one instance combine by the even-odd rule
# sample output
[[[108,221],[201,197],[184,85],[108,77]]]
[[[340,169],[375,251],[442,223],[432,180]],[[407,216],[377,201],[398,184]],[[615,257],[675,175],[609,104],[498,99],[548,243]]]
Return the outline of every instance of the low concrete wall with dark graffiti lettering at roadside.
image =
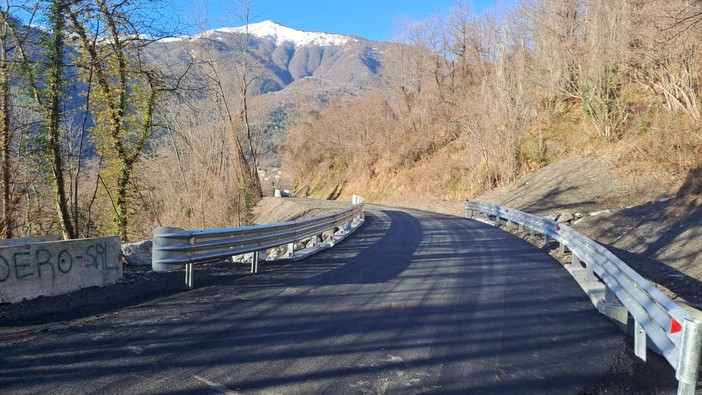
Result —
[[[0,247],[0,303],[115,284],[120,252],[118,237]]]

